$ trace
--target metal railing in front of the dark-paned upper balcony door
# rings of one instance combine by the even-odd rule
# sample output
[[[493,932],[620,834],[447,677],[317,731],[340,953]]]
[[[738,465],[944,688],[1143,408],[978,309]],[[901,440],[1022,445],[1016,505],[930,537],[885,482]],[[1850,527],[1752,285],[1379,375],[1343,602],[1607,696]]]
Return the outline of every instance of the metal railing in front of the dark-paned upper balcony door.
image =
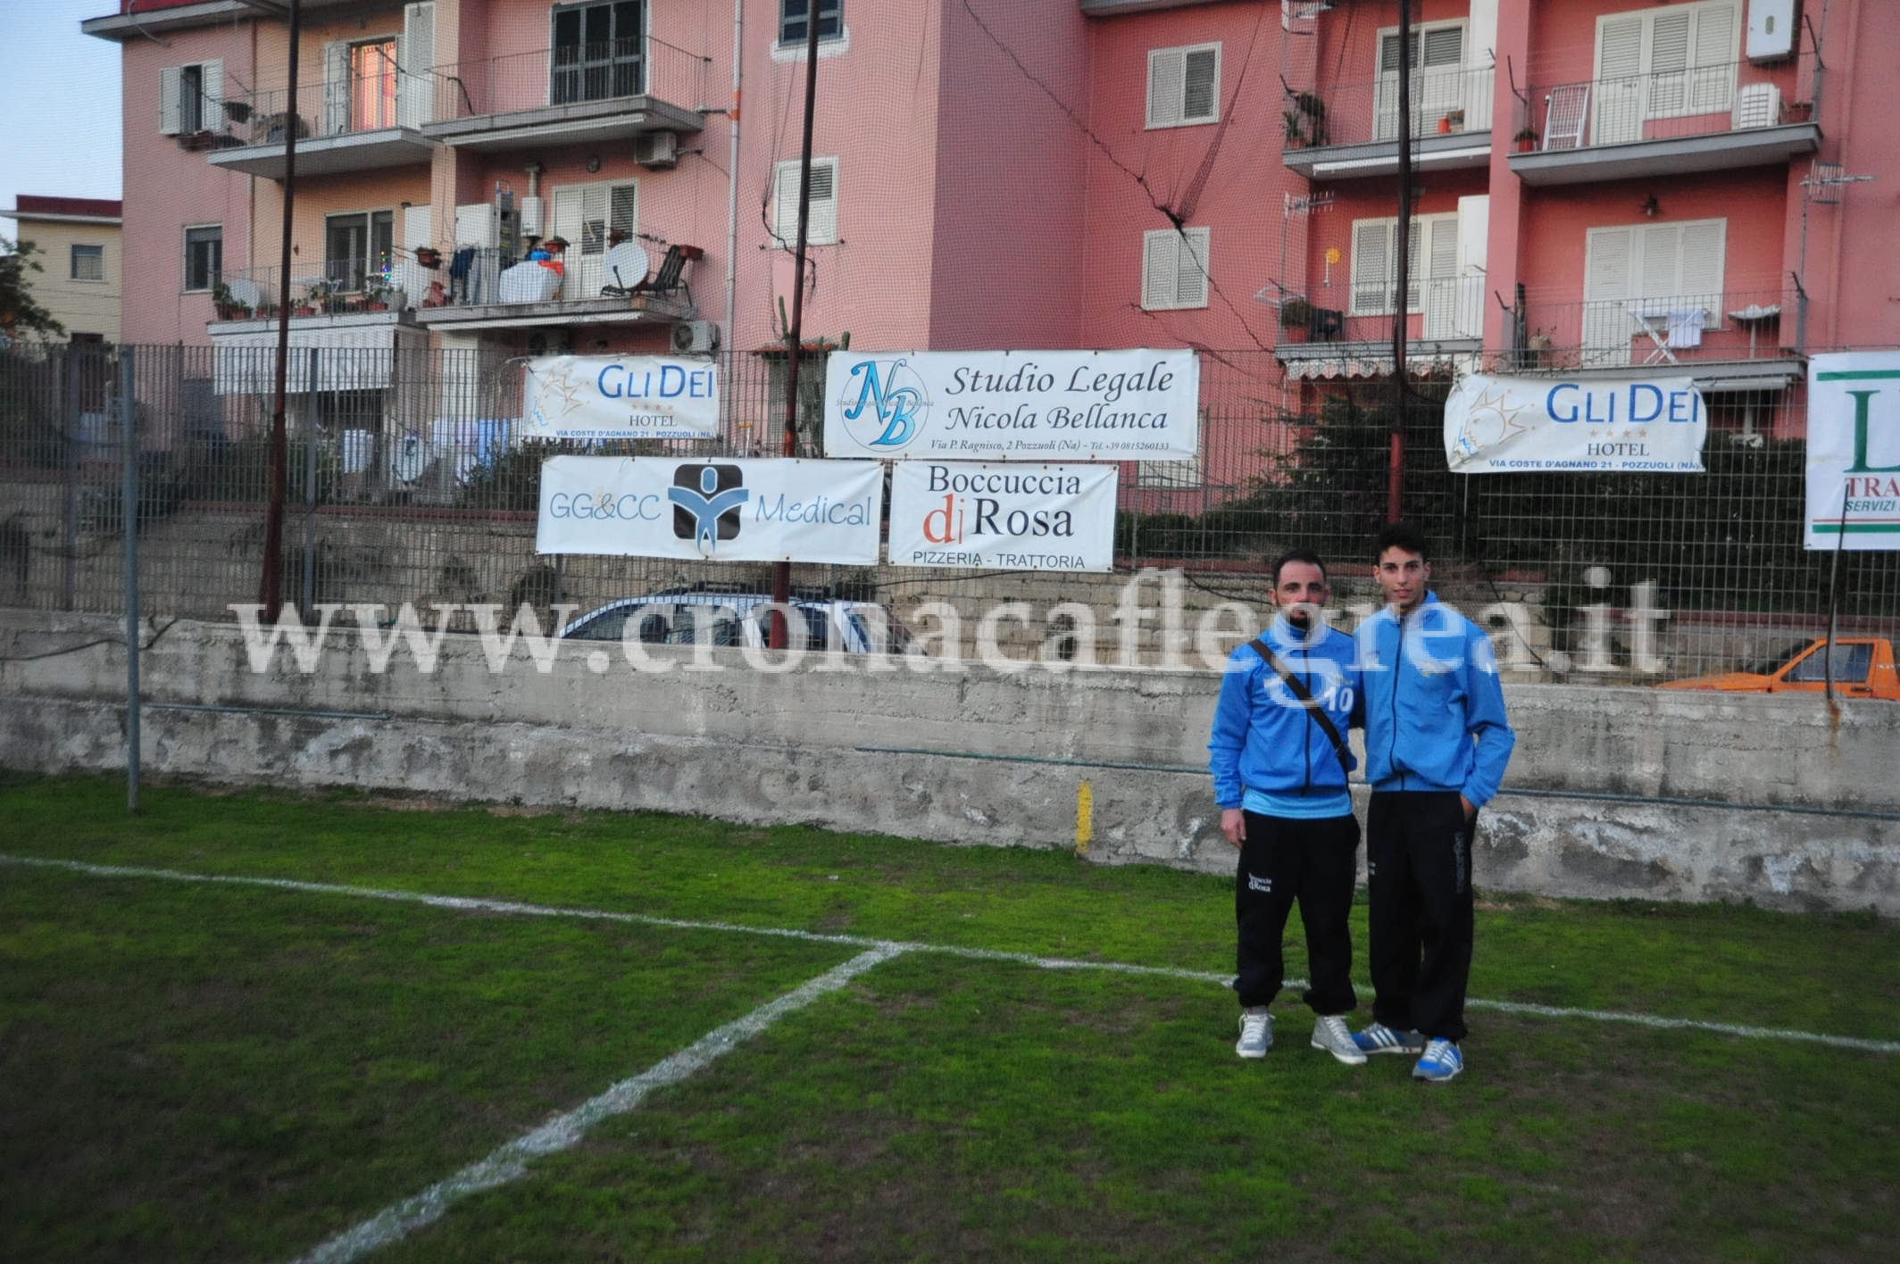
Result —
[[[509,53],[433,70],[431,118],[519,114],[652,97],[682,110],[705,101],[712,59],[665,40],[612,40]]]

